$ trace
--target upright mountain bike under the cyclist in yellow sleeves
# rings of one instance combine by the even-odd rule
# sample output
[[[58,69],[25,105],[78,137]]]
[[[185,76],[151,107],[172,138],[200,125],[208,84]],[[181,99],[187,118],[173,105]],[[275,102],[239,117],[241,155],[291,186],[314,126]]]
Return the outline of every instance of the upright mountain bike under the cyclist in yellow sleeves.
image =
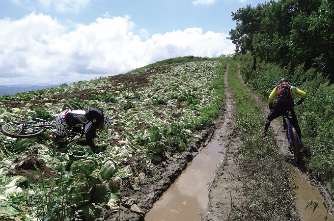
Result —
[[[289,145],[292,149],[293,155],[295,157],[296,163],[299,164],[299,162],[302,160],[300,148],[302,146],[302,141],[300,140],[296,129],[292,126],[290,123],[290,120],[292,119],[292,112],[287,111],[285,116],[283,116],[283,128],[282,132],[285,132],[286,138],[289,141]]]

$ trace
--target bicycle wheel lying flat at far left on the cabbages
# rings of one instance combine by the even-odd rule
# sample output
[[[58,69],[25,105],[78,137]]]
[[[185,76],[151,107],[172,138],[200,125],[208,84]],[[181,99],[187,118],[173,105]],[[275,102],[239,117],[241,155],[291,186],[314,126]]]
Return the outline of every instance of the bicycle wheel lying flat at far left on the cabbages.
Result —
[[[44,132],[44,128],[29,126],[33,121],[13,121],[1,127],[1,133],[11,138],[33,138]]]

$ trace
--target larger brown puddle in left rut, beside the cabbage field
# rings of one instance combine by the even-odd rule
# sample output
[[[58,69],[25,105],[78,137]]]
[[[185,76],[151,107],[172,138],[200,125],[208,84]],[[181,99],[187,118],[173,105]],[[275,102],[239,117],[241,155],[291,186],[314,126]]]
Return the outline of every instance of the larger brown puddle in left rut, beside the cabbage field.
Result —
[[[222,149],[217,140],[203,148],[154,204],[145,221],[201,221],[198,212],[206,212],[207,184],[215,177],[213,173]]]

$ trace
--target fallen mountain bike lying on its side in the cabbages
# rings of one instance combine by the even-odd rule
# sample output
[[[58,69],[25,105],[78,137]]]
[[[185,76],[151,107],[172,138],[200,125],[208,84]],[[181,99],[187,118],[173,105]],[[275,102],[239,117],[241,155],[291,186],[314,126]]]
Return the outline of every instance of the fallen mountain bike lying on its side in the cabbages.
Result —
[[[65,111],[66,109],[73,110],[71,105],[64,104],[62,111]],[[44,119],[36,118],[36,114],[34,114],[33,120],[34,121],[13,121],[6,123],[1,127],[1,133],[11,138],[33,138],[49,129],[56,134],[56,124],[49,123]],[[70,129],[72,129],[72,132],[79,132],[78,130],[73,130],[73,128]]]

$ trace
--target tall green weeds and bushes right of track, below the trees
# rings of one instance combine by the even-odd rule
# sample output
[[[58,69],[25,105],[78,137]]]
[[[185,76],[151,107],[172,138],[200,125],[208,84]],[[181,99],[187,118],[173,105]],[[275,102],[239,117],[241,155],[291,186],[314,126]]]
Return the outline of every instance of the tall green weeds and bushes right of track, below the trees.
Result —
[[[265,100],[281,78],[307,93],[301,106],[295,107],[304,142],[303,156],[306,167],[315,177],[328,183],[334,192],[334,84],[314,69],[303,65],[293,71],[278,65],[262,63],[252,70],[251,56],[240,56],[247,66],[246,83]],[[297,98],[298,100],[298,98]],[[333,194],[332,194],[333,197]]]

